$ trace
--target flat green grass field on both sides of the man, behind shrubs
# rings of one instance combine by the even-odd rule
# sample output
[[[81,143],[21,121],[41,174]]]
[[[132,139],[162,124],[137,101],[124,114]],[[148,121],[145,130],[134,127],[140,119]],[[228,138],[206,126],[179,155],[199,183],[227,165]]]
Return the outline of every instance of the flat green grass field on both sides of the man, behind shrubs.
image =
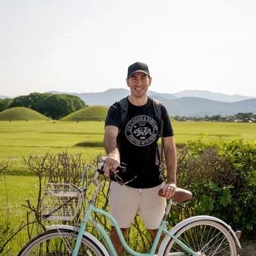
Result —
[[[173,122],[176,143],[186,143],[201,136],[205,142],[243,138],[256,140],[255,123]],[[0,160],[12,159],[13,174],[26,175],[22,156],[57,153],[67,150],[81,153],[85,161],[104,152],[104,122],[1,121]],[[86,147],[78,147],[83,145]]]

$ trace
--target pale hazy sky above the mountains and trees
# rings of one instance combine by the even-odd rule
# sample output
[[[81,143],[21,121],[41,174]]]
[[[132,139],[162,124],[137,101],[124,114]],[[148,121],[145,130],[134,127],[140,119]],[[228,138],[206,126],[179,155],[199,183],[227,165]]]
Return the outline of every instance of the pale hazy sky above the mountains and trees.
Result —
[[[127,88],[256,97],[255,0],[0,0],[0,95]]]

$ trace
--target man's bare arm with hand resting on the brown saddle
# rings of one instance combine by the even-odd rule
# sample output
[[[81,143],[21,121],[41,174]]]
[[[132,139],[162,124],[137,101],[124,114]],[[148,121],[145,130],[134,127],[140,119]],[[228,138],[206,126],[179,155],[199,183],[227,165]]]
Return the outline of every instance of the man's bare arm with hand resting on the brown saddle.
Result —
[[[163,138],[164,156],[167,170],[167,184],[163,188],[163,195],[170,198],[176,191],[176,170],[177,170],[177,152],[173,136]]]

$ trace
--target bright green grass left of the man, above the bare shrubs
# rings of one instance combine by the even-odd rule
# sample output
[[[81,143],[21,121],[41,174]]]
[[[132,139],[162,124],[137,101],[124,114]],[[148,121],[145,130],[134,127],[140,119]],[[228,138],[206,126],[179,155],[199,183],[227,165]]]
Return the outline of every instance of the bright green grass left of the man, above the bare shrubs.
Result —
[[[81,153],[84,161],[89,161],[103,153],[103,148],[76,147],[76,144],[92,141],[92,145],[98,145],[102,143],[103,131],[104,122],[1,121],[0,161],[14,160],[9,171],[20,175],[28,173],[22,162],[23,156],[67,151]]]

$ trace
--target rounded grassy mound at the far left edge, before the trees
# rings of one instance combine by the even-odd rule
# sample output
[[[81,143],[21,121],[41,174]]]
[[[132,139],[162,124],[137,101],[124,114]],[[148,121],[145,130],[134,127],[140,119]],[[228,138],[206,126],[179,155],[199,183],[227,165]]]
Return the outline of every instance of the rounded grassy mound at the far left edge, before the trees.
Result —
[[[15,107],[0,112],[0,120],[47,120],[50,119],[33,109]]]

